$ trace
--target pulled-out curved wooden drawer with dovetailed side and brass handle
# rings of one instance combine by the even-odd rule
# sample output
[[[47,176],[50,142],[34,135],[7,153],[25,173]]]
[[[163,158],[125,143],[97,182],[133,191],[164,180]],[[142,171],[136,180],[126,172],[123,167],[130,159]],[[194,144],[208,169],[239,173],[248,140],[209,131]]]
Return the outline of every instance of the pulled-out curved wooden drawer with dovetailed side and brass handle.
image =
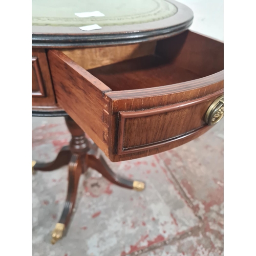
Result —
[[[191,31],[158,41],[154,54],[90,70],[60,50],[48,59],[58,104],[114,162],[197,138],[223,95],[223,43]]]

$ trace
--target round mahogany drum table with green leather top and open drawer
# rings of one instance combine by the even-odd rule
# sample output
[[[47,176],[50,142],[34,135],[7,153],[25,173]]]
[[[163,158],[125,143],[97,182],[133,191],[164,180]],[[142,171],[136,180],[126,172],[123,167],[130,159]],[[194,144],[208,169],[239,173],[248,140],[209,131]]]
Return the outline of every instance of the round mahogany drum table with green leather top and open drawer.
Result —
[[[104,16],[88,17],[95,11]],[[42,171],[69,164],[52,243],[69,223],[88,167],[119,186],[145,187],[113,173],[97,147],[113,162],[157,154],[223,117],[223,42],[189,31],[192,21],[174,0],[32,1],[32,116],[65,116],[72,134],[53,162],[32,161]],[[94,24],[101,29],[80,29]]]

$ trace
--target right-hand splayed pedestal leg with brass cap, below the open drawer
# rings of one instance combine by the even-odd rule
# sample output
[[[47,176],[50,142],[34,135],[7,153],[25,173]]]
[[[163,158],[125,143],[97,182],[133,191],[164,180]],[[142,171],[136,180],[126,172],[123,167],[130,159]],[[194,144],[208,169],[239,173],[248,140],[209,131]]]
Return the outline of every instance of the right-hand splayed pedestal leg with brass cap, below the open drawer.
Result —
[[[135,189],[141,191],[145,188],[145,183],[137,180],[130,180],[115,174],[111,168],[106,164],[102,156],[99,158],[93,155],[87,155],[86,162],[88,167],[97,170],[103,177],[110,182],[125,188]]]

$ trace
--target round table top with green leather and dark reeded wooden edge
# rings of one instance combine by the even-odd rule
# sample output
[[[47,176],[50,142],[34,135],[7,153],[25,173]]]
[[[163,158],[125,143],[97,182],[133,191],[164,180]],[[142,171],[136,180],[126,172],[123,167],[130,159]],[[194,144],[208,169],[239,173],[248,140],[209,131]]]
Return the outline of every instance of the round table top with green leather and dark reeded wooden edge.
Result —
[[[75,15],[94,11],[104,16]],[[175,0],[32,0],[32,46],[132,44],[181,33],[192,20],[193,12]],[[79,29],[93,24],[102,29]]]

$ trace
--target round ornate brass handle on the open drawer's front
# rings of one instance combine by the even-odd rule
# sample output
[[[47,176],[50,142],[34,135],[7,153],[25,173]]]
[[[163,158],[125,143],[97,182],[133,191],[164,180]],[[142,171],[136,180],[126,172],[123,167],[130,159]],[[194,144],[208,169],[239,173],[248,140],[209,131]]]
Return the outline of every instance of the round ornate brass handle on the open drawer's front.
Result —
[[[209,106],[207,110],[204,120],[208,125],[214,125],[218,123],[222,117],[224,116],[224,96],[222,95],[218,99],[216,99]]]

